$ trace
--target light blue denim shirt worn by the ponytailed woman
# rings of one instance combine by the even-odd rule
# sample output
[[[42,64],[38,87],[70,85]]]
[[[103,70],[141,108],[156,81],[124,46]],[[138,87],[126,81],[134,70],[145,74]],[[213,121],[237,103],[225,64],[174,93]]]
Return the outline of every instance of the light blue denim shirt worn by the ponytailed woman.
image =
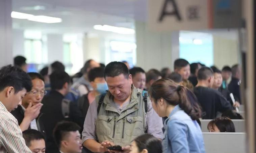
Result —
[[[200,126],[180,106],[165,120],[163,153],[205,153]]]

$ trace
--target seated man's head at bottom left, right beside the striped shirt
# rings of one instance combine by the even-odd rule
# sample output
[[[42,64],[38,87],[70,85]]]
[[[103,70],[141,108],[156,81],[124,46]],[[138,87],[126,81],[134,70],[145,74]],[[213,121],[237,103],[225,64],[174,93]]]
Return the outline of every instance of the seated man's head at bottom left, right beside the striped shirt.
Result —
[[[41,132],[35,129],[25,130],[23,133],[23,138],[26,142],[27,147],[33,153],[45,153],[46,152],[46,142],[44,140]]]

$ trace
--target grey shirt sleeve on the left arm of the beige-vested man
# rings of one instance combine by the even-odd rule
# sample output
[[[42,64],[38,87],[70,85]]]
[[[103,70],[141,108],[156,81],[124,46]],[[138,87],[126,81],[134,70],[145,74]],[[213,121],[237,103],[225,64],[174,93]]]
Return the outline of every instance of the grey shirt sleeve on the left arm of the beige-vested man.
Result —
[[[82,131],[82,143],[88,139],[97,140],[95,122],[97,120],[97,103],[94,100],[88,109],[85,117],[84,129]]]

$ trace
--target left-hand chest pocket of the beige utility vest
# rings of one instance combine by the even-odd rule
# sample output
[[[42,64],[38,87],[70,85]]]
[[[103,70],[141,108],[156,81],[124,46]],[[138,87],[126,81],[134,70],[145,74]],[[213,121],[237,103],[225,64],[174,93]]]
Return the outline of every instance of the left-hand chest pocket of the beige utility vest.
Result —
[[[109,135],[111,134],[113,123],[111,120],[113,116],[99,115],[96,122],[96,134],[97,135]]]

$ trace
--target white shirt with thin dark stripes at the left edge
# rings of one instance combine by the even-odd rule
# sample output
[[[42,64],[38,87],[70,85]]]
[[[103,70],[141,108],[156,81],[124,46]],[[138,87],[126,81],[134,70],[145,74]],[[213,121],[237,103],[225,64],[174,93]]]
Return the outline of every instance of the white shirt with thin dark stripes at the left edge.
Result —
[[[17,119],[0,101],[0,153],[32,153],[26,146]]]

